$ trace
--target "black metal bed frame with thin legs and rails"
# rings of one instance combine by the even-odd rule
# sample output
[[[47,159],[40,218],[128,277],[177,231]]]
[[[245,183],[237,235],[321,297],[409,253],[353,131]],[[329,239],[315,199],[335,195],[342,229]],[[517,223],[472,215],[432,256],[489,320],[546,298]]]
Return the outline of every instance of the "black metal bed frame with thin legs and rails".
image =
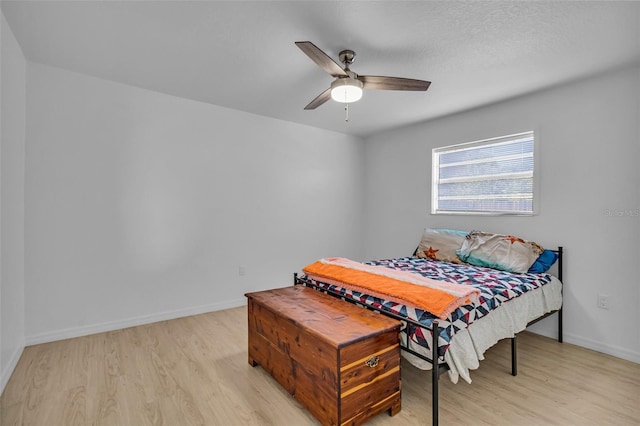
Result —
[[[563,270],[563,264],[562,264],[562,256],[563,256],[563,248],[562,246],[558,246],[557,250],[552,250],[553,252],[555,252],[558,255],[558,260],[557,260],[557,274],[556,277],[560,280],[560,282],[562,282],[563,286],[564,286],[564,281],[562,281],[562,270]],[[415,254],[415,253],[414,253]],[[331,296],[340,298],[346,302],[349,303],[353,303],[355,305],[364,307],[366,309],[371,309],[374,310],[376,312],[379,312],[383,315],[389,316],[391,318],[397,319],[399,321],[404,321],[407,323],[410,323],[412,325],[415,325],[417,327],[421,327],[421,328],[425,328],[425,329],[429,329],[428,327],[425,327],[423,324],[420,324],[419,322],[412,320],[410,318],[405,318],[401,315],[396,315],[392,312],[387,312],[378,308],[375,308],[373,306],[368,306],[368,305],[364,305],[361,304],[359,302],[357,302],[356,300],[350,300],[345,298],[344,296],[342,296],[341,294],[325,289],[325,288],[320,288],[318,286],[316,286],[315,284],[313,284],[310,281],[306,281],[300,277],[298,277],[297,273],[293,274],[293,281],[294,281],[294,285],[306,285],[308,287],[312,287],[318,291],[321,291],[323,293],[329,294]],[[534,319],[533,321],[529,322],[527,324],[527,327],[537,323],[538,321],[541,321],[553,314],[557,313],[558,314],[558,342],[562,343],[562,306],[560,307],[560,309],[558,309],[557,311],[551,311],[548,312],[544,315],[542,315],[539,318]],[[430,363],[432,365],[431,368],[431,424],[433,426],[437,426],[438,425],[438,398],[439,398],[439,394],[438,394],[438,381],[440,378],[440,375],[442,373],[444,373],[445,371],[449,370],[449,366],[447,365],[446,362],[444,362],[444,359],[441,359],[440,357],[438,357],[438,336],[440,335],[440,331],[439,331],[439,325],[438,325],[438,320],[434,320],[433,321],[433,325],[431,328],[431,336],[432,336],[432,342],[431,342],[431,359],[427,358],[426,356],[419,354],[418,352],[415,352],[405,346],[401,345],[401,349],[409,352],[410,354],[417,356],[418,358],[427,361],[428,363]],[[517,357],[517,341],[516,341],[517,335],[511,337],[511,375],[516,376],[518,374],[518,357]],[[442,361],[442,363],[440,362],[435,362],[433,360],[439,360]]]

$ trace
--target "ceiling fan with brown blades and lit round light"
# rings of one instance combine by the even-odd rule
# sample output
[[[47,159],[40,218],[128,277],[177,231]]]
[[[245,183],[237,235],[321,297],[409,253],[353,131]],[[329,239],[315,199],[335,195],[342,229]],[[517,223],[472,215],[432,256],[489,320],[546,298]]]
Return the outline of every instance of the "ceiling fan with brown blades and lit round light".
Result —
[[[344,64],[343,68],[310,41],[297,41],[296,46],[320,68],[336,78],[327,90],[309,102],[304,109],[316,109],[329,99],[346,104],[355,102],[362,97],[363,89],[425,91],[431,84],[430,81],[412,78],[358,75],[349,69],[356,56],[353,50],[340,52],[339,59]]]

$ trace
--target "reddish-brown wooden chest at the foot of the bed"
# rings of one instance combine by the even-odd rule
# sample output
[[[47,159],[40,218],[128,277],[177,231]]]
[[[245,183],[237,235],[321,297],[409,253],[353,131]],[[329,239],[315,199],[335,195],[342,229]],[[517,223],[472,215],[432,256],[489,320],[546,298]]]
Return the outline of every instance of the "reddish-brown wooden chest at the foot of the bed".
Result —
[[[322,424],[400,411],[400,322],[304,286],[248,293],[249,364]]]

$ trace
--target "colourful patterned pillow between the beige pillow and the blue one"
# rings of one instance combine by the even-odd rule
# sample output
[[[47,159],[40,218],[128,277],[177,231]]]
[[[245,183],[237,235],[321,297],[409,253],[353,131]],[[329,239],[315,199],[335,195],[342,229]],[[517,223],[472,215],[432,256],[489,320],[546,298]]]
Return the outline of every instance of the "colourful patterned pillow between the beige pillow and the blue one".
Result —
[[[543,251],[538,244],[512,235],[472,231],[456,253],[472,265],[525,273]]]

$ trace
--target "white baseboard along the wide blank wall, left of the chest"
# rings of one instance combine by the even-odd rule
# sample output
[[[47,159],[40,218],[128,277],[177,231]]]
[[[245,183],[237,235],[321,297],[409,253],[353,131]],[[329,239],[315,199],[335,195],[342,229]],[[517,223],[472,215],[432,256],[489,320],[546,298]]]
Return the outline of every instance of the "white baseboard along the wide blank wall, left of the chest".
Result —
[[[119,330],[122,328],[135,327],[137,325],[151,324],[158,321],[166,321],[176,318],[188,317],[191,315],[204,314],[207,312],[221,311],[223,309],[236,308],[247,304],[246,298],[228,300],[223,303],[211,305],[194,306],[176,311],[160,312],[156,314],[132,317],[123,320],[109,321],[100,324],[92,324],[82,327],[66,328],[46,333],[25,336],[25,345],[37,345],[40,343],[54,342],[57,340],[71,339],[73,337],[88,336],[90,334],[103,333],[105,331]]]

